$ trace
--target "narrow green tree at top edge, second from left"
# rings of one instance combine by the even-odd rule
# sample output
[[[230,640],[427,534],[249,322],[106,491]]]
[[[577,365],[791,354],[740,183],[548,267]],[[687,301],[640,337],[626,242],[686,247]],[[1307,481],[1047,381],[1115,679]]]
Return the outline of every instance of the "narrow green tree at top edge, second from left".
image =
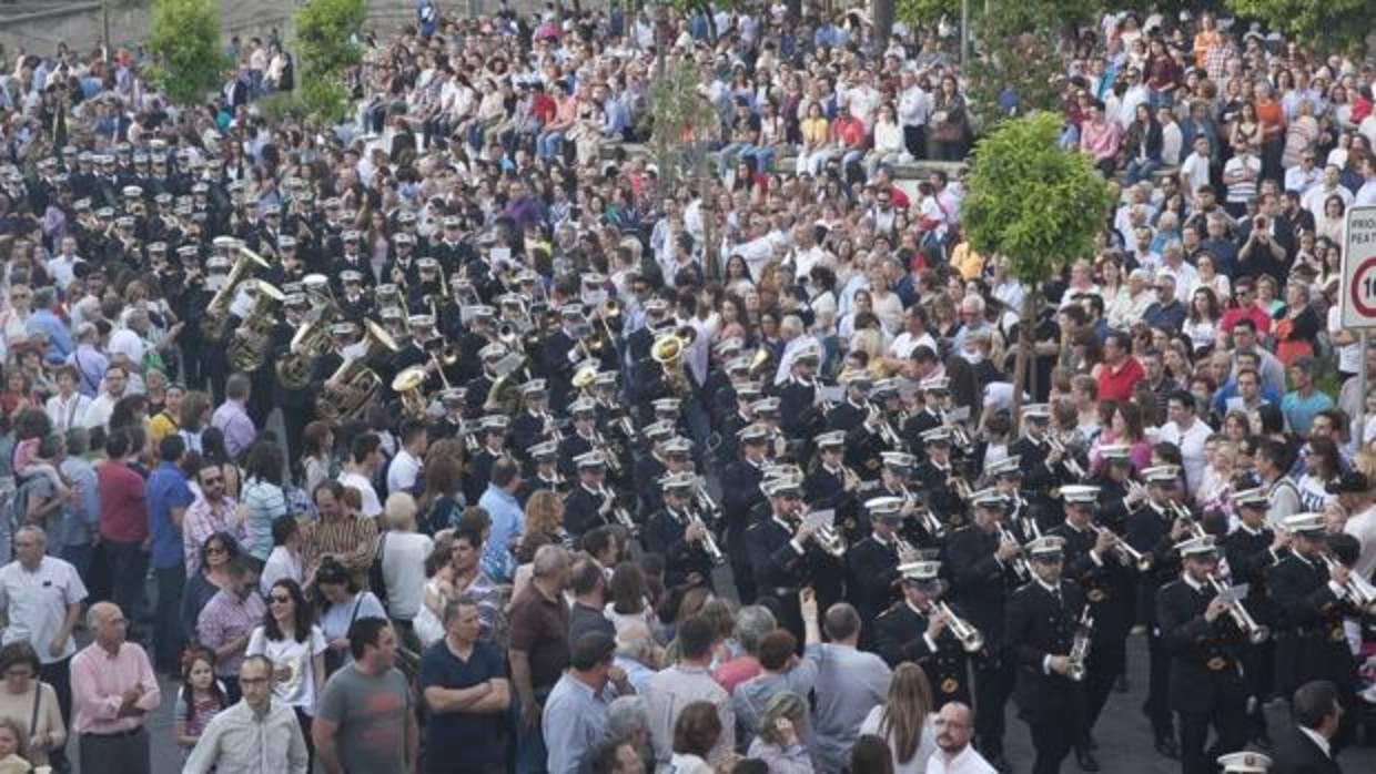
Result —
[[[301,99],[310,115],[322,124],[348,115],[344,77],[362,60],[358,40],[366,18],[366,0],[310,0],[296,12]]]

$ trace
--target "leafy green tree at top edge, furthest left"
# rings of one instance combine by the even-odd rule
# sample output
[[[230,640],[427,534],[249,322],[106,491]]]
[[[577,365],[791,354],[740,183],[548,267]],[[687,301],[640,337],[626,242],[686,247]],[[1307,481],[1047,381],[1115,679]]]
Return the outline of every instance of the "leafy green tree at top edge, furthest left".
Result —
[[[153,82],[178,103],[202,100],[230,65],[220,49],[219,0],[155,0],[147,45]]]

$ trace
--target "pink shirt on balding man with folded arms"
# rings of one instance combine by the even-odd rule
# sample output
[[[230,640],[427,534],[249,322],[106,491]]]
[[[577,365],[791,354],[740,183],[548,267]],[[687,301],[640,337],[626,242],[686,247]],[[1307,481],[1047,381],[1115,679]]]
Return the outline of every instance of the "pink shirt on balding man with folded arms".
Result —
[[[72,657],[72,727],[78,734],[118,734],[143,725],[143,716],[120,718],[124,692],[143,686],[135,707],[153,712],[162,701],[149,654],[132,642],[117,656],[92,642]]]

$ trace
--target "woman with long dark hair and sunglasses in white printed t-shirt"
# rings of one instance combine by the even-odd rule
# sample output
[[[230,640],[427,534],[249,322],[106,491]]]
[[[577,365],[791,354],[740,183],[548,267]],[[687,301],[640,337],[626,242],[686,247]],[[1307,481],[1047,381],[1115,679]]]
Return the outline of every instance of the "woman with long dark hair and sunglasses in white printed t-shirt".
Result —
[[[267,595],[263,624],[249,635],[245,656],[267,656],[272,661],[272,697],[296,711],[307,751],[314,745],[307,733],[315,716],[315,703],[325,687],[325,632],[315,626],[315,612],[301,586],[283,577]],[[310,766],[307,766],[310,769]]]

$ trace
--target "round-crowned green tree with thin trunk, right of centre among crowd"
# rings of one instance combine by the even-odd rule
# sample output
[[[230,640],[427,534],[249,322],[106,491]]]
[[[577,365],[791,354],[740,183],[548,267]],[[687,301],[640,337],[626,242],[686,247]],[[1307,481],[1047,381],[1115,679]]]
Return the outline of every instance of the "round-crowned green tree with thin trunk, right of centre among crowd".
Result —
[[[1094,254],[1108,183],[1088,157],[1057,146],[1061,117],[1038,111],[1004,121],[976,147],[960,224],[980,253],[1007,256],[1025,287],[1013,384],[1022,385],[1042,283]],[[1017,421],[1022,390],[1013,390]]]

